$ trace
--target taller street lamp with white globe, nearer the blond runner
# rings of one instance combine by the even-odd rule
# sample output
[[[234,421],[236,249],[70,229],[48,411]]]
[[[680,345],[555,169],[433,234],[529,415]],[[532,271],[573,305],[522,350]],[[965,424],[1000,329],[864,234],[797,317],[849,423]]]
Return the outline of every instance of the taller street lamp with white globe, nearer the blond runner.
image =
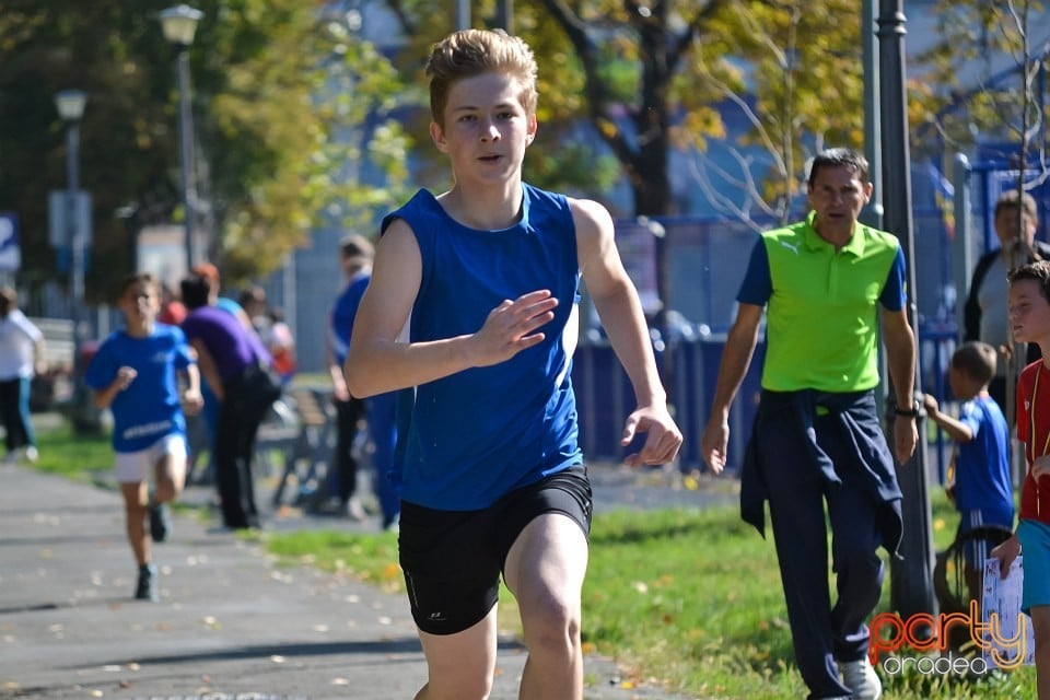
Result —
[[[197,196],[192,177],[194,127],[189,94],[189,47],[197,33],[197,23],[205,16],[200,10],[185,4],[160,13],[164,38],[178,48],[178,160],[182,173],[183,221],[185,224],[186,269],[194,265],[194,207]]]

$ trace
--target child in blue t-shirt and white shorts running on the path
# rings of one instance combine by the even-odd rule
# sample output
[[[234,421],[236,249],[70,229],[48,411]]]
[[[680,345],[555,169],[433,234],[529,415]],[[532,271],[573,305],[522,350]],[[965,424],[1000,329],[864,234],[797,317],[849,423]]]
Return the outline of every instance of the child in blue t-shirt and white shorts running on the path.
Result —
[[[124,495],[128,541],[139,565],[135,597],[155,602],[160,594],[151,542],[167,538],[166,503],[183,490],[183,407],[194,412],[200,410],[200,374],[183,331],[156,322],[161,287],[152,275],[140,272],[126,278],[117,304],[124,313],[125,327],[98,346],[84,382],[95,389],[95,406],[113,412],[116,476]],[[186,375],[182,394],[176,371]],[[155,487],[149,494],[151,472]]]

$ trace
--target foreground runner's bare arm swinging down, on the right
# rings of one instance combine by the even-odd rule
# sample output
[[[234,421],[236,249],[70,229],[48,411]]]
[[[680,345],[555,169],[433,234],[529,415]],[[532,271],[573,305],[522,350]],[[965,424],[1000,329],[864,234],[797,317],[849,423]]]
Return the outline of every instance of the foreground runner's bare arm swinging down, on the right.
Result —
[[[681,431],[667,409],[667,394],[656,371],[653,345],[638,291],[623,269],[614,241],[612,219],[591,200],[570,200],[576,224],[580,269],[612,350],[623,365],[638,407],[628,416],[621,444],[646,432],[641,452],[629,455],[631,466],[664,464],[678,455]]]

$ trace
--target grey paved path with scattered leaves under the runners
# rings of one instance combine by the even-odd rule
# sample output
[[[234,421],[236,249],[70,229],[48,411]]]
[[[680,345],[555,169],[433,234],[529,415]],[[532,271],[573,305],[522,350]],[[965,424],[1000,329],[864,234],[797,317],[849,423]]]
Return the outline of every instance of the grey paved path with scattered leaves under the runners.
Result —
[[[698,503],[672,481],[600,470],[596,508]],[[185,495],[207,501],[210,490]],[[174,524],[154,553],[161,602],[136,602],[119,494],[0,466],[0,697],[393,700],[411,698],[425,678],[402,595],[278,569],[258,545],[192,515]],[[267,516],[278,530],[320,526],[377,524]],[[517,698],[523,662],[502,639],[493,700]],[[588,699],[672,698],[622,688],[609,660],[588,657],[586,674]]]

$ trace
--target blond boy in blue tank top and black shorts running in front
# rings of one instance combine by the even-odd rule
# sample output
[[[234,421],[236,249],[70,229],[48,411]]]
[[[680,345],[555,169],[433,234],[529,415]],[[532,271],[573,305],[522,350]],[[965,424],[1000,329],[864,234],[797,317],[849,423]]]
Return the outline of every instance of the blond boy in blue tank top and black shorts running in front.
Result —
[[[583,697],[591,487],[570,378],[581,273],[634,389],[622,443],[646,433],[628,464],[666,463],[681,445],[608,211],[522,182],[536,71],[500,31],[434,47],[430,135],[454,185],[384,219],[345,366],[355,396],[415,387],[398,438],[399,548],[429,669],[418,699],[488,697],[501,572],[528,650],[521,697]]]

